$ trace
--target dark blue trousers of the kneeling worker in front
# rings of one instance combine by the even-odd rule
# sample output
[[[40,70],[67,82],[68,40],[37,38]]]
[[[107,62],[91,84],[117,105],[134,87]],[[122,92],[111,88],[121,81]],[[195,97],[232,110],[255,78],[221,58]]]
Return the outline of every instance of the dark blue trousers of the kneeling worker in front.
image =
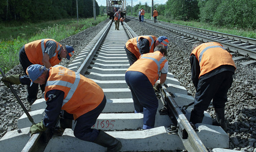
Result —
[[[91,127],[96,123],[97,118],[106,105],[106,96],[92,111],[89,111],[76,119],[76,126],[74,129],[74,135],[76,138],[93,142],[99,135],[99,130],[92,129]]]

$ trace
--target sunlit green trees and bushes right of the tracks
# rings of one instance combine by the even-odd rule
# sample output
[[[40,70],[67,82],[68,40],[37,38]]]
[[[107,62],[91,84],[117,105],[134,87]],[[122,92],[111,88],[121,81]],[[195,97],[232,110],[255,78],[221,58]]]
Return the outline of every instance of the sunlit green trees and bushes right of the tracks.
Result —
[[[133,6],[133,15],[140,8],[151,13],[151,5],[141,3]],[[256,0],[168,0],[154,4],[159,15],[173,20],[199,21],[228,28],[256,29]],[[128,5],[127,13],[131,14]]]

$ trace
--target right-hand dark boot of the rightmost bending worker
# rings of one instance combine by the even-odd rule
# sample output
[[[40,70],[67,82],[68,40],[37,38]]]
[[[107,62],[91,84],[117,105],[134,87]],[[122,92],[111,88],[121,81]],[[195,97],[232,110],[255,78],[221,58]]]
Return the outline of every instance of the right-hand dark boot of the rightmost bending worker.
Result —
[[[213,120],[212,125],[220,126],[224,131],[227,131],[227,124],[225,120],[225,107],[223,108],[214,108],[216,120]]]

